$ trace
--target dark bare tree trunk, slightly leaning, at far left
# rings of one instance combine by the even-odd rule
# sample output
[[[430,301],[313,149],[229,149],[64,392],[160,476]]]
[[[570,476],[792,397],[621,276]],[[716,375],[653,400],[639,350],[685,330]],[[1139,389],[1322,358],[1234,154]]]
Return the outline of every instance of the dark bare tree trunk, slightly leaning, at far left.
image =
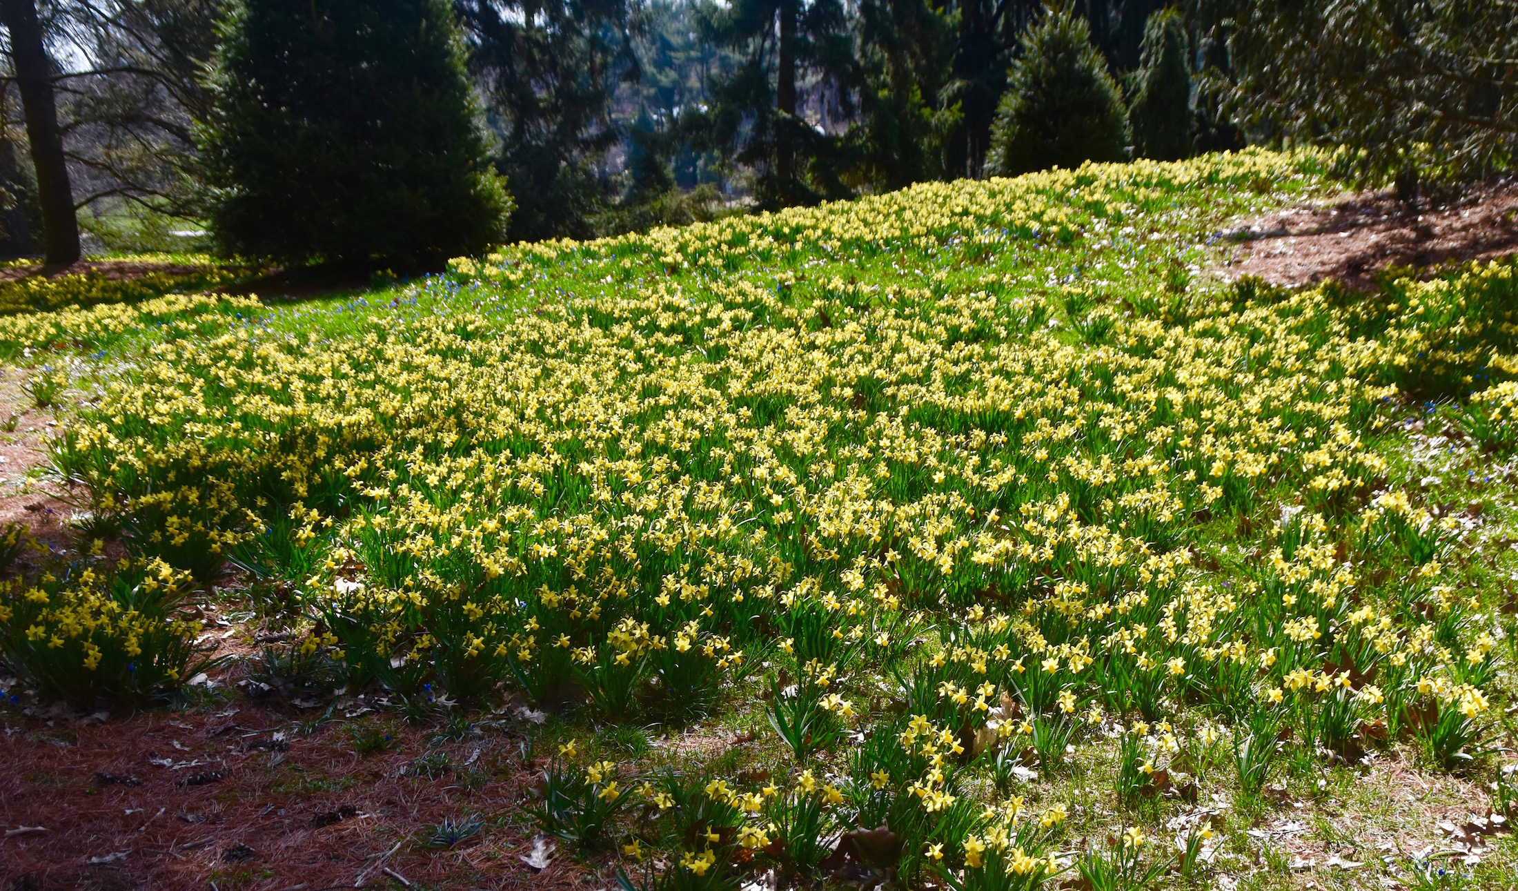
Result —
[[[68,187],[64,138],[58,129],[53,102],[53,73],[43,49],[43,24],[36,0],[0,0],[0,21],[11,32],[11,61],[26,109],[26,137],[32,143],[36,167],[36,197],[43,205],[43,237],[47,266],[68,266],[79,260],[79,220]]]

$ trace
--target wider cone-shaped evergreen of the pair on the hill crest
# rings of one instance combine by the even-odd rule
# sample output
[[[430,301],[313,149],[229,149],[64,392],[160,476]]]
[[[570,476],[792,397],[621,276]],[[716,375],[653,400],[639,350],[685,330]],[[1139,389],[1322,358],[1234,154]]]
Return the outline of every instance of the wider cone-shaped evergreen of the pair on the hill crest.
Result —
[[[991,132],[990,172],[1017,176],[1082,161],[1122,161],[1125,118],[1117,83],[1091,46],[1085,20],[1069,9],[1046,9],[1008,71]]]

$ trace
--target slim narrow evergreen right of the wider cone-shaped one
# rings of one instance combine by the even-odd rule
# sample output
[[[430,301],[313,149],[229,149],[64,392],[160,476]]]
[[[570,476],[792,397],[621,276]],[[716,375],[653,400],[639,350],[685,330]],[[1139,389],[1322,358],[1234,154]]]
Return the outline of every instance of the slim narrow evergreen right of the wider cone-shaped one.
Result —
[[[1134,155],[1179,161],[1192,155],[1192,67],[1186,26],[1175,9],[1149,17],[1138,64],[1138,90],[1128,108]]]

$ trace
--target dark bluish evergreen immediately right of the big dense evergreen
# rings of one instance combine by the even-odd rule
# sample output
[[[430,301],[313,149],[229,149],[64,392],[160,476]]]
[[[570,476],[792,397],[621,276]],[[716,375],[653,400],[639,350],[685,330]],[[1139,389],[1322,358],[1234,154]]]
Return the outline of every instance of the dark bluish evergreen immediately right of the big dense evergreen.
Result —
[[[516,199],[513,241],[595,237],[612,199],[597,170],[622,141],[610,117],[618,83],[636,82],[638,27],[627,0],[454,0],[469,67],[501,135],[498,165]]]

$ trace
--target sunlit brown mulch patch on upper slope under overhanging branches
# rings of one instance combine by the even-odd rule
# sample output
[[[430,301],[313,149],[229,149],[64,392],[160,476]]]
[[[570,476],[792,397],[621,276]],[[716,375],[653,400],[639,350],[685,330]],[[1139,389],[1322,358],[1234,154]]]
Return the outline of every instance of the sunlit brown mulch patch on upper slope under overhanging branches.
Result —
[[[1394,266],[1428,269],[1518,252],[1518,185],[1412,209],[1389,191],[1359,194],[1245,220],[1230,235],[1242,243],[1224,269],[1230,279],[1254,275],[1280,285],[1336,279],[1371,288],[1377,273]]]

